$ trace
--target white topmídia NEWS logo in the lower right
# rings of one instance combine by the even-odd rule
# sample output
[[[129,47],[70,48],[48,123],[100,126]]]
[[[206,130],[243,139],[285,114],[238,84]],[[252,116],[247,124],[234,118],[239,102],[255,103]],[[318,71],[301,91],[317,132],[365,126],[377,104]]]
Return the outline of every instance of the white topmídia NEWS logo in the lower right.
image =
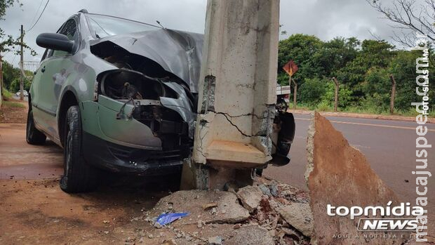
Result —
[[[328,204],[328,216],[349,216],[351,220],[359,218],[357,230],[360,232],[415,232],[419,225],[418,216],[424,215],[420,206],[401,203],[399,206],[332,206]],[[361,217],[363,216],[363,217]],[[375,217],[375,218],[370,218]],[[380,218],[377,218],[380,217]]]

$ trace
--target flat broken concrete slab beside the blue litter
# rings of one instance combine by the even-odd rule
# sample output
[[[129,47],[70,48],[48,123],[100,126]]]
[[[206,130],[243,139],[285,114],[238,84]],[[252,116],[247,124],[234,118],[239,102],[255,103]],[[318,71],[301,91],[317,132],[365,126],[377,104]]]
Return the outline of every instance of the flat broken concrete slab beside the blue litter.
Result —
[[[216,203],[215,213],[204,210],[203,206]],[[212,208],[213,209],[213,208]],[[249,218],[249,212],[239,204],[236,195],[230,192],[189,190],[179,191],[163,197],[149,216],[157,217],[165,212],[189,212],[189,216],[175,221],[172,225],[203,223],[238,223]]]

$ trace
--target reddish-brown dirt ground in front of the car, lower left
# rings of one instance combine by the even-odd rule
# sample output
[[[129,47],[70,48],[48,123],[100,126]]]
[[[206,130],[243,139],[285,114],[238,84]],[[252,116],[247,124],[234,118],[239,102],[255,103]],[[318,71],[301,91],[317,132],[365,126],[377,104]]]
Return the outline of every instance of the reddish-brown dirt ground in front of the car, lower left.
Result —
[[[58,178],[0,180],[0,186],[0,244],[128,244],[155,229],[131,219],[168,194],[147,192],[157,185],[67,194]]]

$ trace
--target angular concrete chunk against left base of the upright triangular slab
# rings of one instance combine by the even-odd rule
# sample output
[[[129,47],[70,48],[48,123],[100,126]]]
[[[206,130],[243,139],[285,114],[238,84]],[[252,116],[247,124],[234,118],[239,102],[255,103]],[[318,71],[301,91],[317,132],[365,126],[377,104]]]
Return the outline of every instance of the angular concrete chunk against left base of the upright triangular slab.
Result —
[[[304,236],[312,237],[314,223],[309,204],[292,203],[290,206],[276,208],[276,211],[279,212],[288,224],[295,227]]]

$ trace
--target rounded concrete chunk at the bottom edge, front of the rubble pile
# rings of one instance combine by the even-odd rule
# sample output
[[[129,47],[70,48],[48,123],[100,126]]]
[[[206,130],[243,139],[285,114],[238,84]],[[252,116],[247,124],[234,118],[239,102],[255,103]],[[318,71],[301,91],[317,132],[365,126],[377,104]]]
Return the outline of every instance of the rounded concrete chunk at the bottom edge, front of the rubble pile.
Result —
[[[237,230],[237,234],[225,241],[225,245],[270,245],[274,239],[269,231],[258,225],[246,225]]]

